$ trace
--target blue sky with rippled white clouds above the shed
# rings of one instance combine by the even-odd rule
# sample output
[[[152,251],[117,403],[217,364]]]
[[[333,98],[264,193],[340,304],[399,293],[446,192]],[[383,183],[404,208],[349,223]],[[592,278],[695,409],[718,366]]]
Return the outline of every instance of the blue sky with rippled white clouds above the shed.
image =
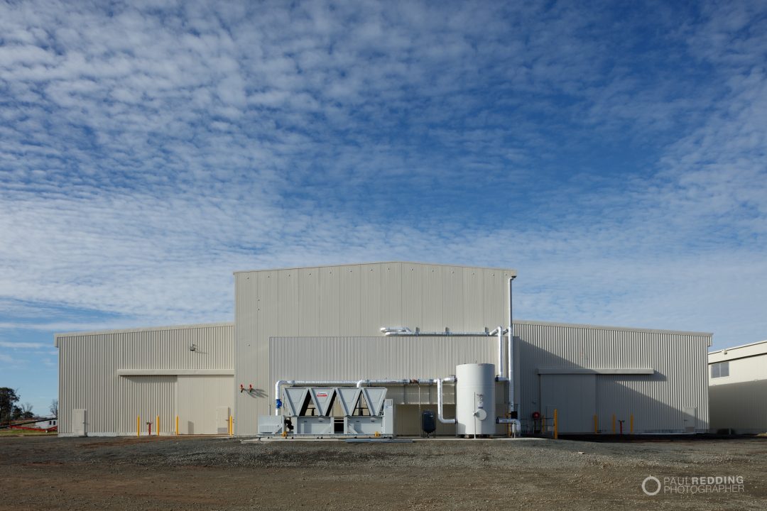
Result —
[[[765,2],[0,3],[0,386],[232,270],[518,270],[516,316],[767,338]]]

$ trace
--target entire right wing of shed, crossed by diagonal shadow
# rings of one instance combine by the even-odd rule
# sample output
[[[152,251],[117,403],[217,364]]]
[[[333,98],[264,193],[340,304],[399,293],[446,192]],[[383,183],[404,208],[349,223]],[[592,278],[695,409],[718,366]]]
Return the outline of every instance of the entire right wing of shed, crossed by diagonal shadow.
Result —
[[[564,432],[708,429],[711,334],[515,323],[522,416],[558,409]]]

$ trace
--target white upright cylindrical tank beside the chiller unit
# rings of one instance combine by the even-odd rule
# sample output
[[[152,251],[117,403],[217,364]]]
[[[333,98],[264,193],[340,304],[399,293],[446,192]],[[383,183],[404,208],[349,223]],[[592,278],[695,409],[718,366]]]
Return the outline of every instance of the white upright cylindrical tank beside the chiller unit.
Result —
[[[495,434],[495,364],[456,366],[456,433]]]

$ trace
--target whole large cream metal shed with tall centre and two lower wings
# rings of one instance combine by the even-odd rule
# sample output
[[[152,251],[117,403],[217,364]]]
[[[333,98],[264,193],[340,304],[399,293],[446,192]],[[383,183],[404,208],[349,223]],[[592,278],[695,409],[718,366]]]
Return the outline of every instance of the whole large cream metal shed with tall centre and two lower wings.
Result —
[[[514,277],[405,262],[235,272],[233,325],[58,334],[60,434],[136,434],[137,418],[146,434],[158,415],[160,434],[176,416],[179,434],[225,433],[229,415],[235,434],[257,434],[281,412],[279,382],[297,380],[406,381],[385,385],[394,431],[418,434],[438,401],[430,382],[475,363],[495,365],[495,415],[526,429],[555,409],[561,433],[709,428],[710,334],[512,323]],[[452,385],[443,398],[452,417]]]

